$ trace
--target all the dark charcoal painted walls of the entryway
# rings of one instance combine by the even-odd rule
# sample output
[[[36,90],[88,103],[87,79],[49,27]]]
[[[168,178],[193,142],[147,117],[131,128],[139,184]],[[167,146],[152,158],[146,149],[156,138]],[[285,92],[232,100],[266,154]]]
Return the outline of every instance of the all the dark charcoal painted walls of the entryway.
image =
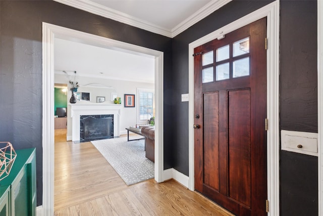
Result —
[[[0,1],[0,141],[37,148],[42,195],[41,22],[165,52],[164,168],[188,175],[188,44],[272,1],[233,1],[173,39],[52,1]],[[316,1],[281,1],[280,127],[317,132]],[[173,72],[174,71],[174,72]],[[281,151],[281,215],[317,215],[317,158]]]

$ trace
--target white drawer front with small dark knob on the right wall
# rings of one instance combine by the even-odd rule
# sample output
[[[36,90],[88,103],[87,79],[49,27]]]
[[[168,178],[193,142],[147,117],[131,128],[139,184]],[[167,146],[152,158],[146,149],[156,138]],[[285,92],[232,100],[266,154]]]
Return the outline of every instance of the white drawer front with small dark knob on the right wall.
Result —
[[[296,131],[284,131],[282,150],[317,156],[317,134]]]

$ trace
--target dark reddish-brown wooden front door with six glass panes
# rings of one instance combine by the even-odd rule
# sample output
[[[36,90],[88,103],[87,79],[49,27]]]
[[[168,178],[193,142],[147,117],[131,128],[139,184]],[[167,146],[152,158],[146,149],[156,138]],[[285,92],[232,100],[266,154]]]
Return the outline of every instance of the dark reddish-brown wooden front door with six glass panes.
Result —
[[[194,49],[195,189],[236,215],[266,215],[265,37],[263,18]]]

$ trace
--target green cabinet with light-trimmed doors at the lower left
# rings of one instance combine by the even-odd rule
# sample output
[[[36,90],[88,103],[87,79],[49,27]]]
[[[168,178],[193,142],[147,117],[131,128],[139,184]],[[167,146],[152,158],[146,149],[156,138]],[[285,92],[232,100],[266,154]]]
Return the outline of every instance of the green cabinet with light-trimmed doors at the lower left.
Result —
[[[36,151],[16,150],[8,177],[0,181],[0,216],[36,215]]]

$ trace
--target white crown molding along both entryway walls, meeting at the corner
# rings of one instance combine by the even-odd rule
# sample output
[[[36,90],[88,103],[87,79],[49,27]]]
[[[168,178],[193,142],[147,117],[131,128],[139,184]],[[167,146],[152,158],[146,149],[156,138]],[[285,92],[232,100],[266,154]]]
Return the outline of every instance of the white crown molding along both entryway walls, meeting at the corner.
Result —
[[[136,17],[130,16],[128,14],[122,13],[117,10],[113,10],[113,9],[101,6],[99,4],[96,4],[88,0],[54,0],[54,1],[83,11],[87,11],[92,14],[96,14],[105,18],[116,20],[118,22],[122,22],[137,28],[141,28],[153,33],[157,33],[167,37],[175,37],[176,35],[180,34],[184,30],[188,29],[189,27],[197,23],[198,21],[210,15],[214,11],[228,4],[232,0],[213,0],[207,5],[205,5],[203,8],[201,8],[200,10],[196,11],[190,17],[185,19],[183,22],[178,24],[173,29],[166,29],[164,27],[154,25],[145,20],[138,19]]]

